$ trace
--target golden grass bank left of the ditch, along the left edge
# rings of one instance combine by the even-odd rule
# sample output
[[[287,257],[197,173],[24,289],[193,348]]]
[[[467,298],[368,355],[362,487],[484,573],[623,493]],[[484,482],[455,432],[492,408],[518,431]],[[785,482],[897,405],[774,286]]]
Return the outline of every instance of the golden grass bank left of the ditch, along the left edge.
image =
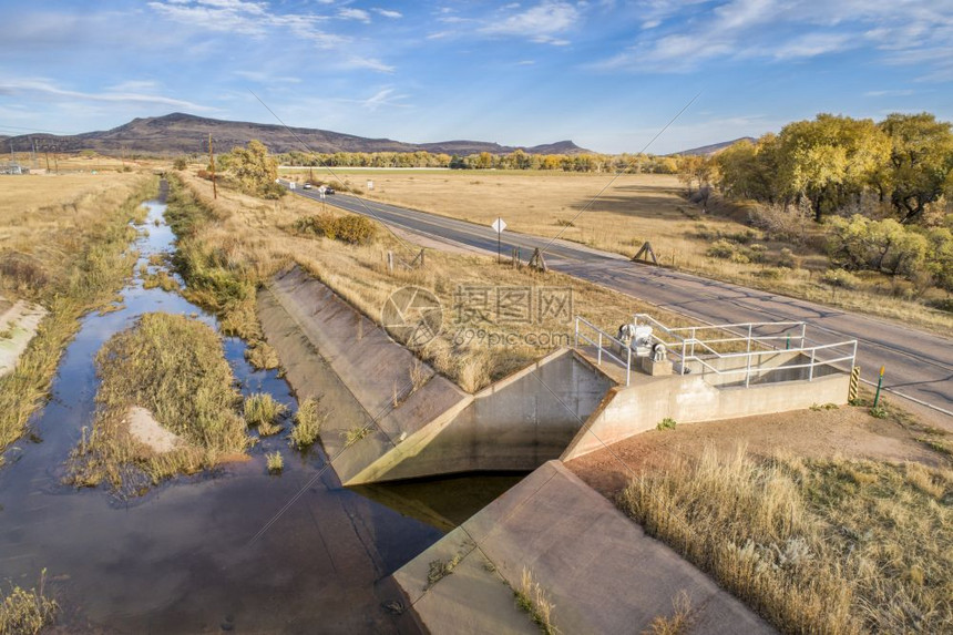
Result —
[[[0,177],[0,293],[42,304],[50,313],[21,356],[0,379],[0,449],[23,433],[30,414],[49,392],[60,355],[84,313],[101,308],[132,274],[140,204],[154,196],[157,180]],[[21,178],[21,181],[17,181]],[[40,191],[37,191],[37,190]],[[54,193],[49,193],[52,190]],[[10,191],[22,202],[6,198]],[[72,198],[70,198],[72,196]],[[69,205],[63,204],[69,201]]]

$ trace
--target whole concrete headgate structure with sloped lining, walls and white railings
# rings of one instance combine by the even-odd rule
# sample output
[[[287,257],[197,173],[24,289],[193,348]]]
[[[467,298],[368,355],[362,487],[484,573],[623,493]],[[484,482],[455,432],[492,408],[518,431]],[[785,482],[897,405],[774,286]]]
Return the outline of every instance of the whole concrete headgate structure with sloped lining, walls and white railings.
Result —
[[[820,351],[855,349],[855,342],[807,347],[801,332],[797,348],[788,338],[782,350],[778,336],[751,325],[746,337],[729,328],[719,338],[746,340],[746,354],[723,354],[718,347],[730,349],[730,341],[698,337],[713,327],[688,335],[654,322],[654,344],[677,361],[663,375],[646,365],[650,376],[633,372],[645,358],[627,342],[577,318],[575,348],[470,395],[299,267],[259,291],[258,313],[299,399],[320,397],[328,412],[321,442],[345,485],[530,471],[655,428],[665,417],[697,422],[843,403],[850,367],[834,365],[852,363],[852,356],[821,359]]]

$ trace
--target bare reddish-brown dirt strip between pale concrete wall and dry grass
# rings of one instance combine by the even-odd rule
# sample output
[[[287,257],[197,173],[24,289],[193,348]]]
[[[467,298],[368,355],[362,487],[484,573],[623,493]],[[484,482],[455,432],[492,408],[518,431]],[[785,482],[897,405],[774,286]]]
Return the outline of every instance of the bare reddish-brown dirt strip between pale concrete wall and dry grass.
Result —
[[[700,457],[706,447],[727,452],[739,443],[761,457],[787,451],[809,459],[913,461],[932,467],[950,462],[896,421],[877,419],[865,408],[844,406],[652,430],[566,465],[590,487],[614,498],[636,473],[664,470],[675,460]]]

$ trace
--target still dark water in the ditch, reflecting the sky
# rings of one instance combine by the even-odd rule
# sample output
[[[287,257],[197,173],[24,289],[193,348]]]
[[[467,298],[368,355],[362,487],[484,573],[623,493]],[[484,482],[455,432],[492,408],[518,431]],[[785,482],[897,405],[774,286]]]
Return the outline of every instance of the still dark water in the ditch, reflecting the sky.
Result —
[[[145,205],[140,263],[172,253],[175,239],[163,197]],[[350,490],[332,470],[321,472],[320,448],[296,452],[279,433],[258,443],[248,461],[167,481],[140,498],[64,485],[63,463],[92,426],[100,347],[150,311],[217,328],[214,316],[178,294],[143,288],[139,274],[117,306],[85,316],[33,434],[4,454],[12,463],[0,470],[4,592],[11,583],[34,586],[45,569],[48,595],[62,607],[58,628],[70,633],[413,632],[397,615],[400,594],[387,577],[519,475]],[[295,410],[276,371],[250,368],[240,339],[224,345],[243,393],[267,391]],[[276,449],[285,471],[271,477],[264,454]]]

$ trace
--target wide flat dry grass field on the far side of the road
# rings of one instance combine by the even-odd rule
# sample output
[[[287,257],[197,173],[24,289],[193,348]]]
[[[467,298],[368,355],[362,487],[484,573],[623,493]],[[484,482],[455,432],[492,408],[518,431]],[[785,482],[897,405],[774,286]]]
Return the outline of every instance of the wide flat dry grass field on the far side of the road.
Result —
[[[953,316],[913,301],[910,294],[915,289],[898,286],[885,276],[872,280],[884,290],[877,294],[836,288],[823,281],[828,258],[820,247],[820,228],[808,227],[808,239],[801,246],[766,240],[741,222],[747,216],[744,211],[730,217],[703,214],[698,205],[685,199],[684,185],[672,175],[624,174],[613,182],[612,174],[563,172],[336,168],[335,173],[358,192],[381,202],[481,225],[502,217],[513,232],[559,235],[628,256],[649,242],[664,266],[902,320],[935,332],[953,329]],[[307,177],[300,171],[289,175],[299,181]],[[315,177],[332,181],[318,168]],[[368,180],[373,181],[372,191],[367,191]],[[752,247],[759,262],[737,263],[707,255],[720,237],[737,238]]]

